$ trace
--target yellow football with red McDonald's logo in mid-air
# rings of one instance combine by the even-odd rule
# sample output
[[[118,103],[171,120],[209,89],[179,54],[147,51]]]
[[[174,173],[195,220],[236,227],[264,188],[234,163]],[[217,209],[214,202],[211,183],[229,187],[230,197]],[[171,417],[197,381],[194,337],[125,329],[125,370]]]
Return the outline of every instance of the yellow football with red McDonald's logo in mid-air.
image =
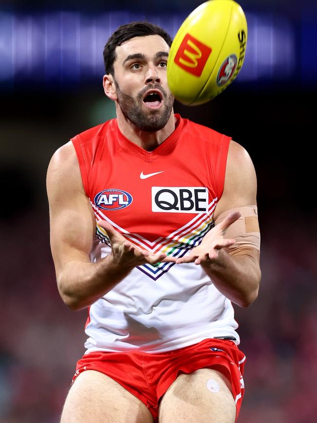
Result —
[[[209,0],[184,20],[171,45],[167,81],[178,101],[205,103],[238,75],[245,56],[247,21],[233,0]]]

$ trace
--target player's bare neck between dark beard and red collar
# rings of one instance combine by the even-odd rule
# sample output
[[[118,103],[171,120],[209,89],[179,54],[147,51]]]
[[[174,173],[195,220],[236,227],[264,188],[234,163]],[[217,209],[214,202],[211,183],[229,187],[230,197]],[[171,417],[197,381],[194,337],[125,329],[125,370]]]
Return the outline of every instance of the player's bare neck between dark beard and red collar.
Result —
[[[119,109],[119,110],[118,110]],[[155,132],[141,131],[135,124],[125,118],[121,109],[117,109],[117,121],[121,133],[130,141],[146,151],[152,151],[168,138],[175,130],[175,116],[172,109],[171,116],[164,128]]]

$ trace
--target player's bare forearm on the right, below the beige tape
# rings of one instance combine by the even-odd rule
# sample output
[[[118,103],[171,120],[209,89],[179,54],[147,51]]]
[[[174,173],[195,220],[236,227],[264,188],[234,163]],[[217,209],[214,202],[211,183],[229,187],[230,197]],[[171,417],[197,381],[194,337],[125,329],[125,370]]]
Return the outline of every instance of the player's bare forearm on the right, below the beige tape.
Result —
[[[231,256],[222,249],[216,260],[202,267],[218,290],[240,307],[257,298],[261,272],[257,260],[247,252]]]

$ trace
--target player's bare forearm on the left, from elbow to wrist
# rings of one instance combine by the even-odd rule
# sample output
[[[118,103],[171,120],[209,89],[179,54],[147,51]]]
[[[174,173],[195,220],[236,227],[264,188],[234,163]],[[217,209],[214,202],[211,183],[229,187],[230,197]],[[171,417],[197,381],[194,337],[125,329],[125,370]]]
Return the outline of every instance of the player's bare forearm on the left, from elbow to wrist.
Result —
[[[109,292],[132,268],[118,265],[111,254],[97,263],[69,261],[58,275],[59,294],[69,308],[81,310]]]

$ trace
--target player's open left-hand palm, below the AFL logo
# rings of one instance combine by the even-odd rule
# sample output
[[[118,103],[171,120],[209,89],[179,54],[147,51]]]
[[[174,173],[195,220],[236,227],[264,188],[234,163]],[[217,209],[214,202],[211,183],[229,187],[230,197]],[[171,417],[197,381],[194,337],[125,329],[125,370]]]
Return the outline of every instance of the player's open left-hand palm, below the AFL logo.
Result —
[[[114,261],[120,263],[120,265],[124,267],[133,268],[145,263],[157,264],[159,262],[176,262],[176,258],[168,257],[165,253],[151,254],[147,250],[138,248],[132,242],[127,241],[107,221],[100,220],[98,221],[98,225],[107,232]]]

